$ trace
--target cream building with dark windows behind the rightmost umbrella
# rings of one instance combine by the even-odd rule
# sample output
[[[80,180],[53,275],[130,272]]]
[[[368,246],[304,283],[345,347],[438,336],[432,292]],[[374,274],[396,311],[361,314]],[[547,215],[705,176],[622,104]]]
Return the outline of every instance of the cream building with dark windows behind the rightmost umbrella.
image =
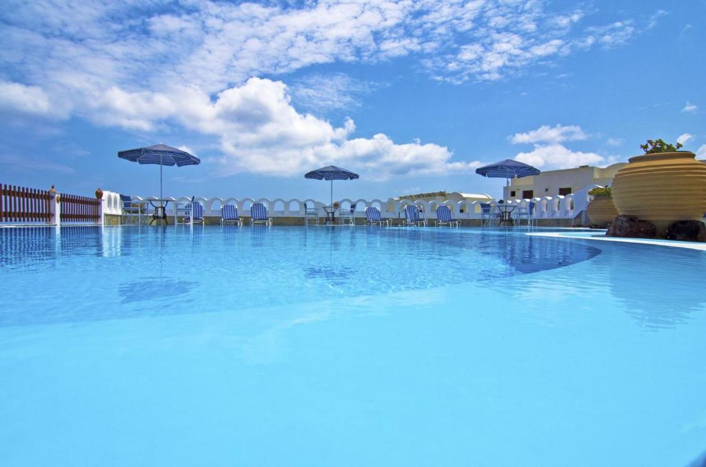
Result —
[[[575,169],[548,170],[542,174],[513,178],[510,186],[503,187],[505,200],[528,200],[544,196],[568,195],[590,185],[612,185],[618,170],[627,162],[619,162],[605,168],[580,166]]]

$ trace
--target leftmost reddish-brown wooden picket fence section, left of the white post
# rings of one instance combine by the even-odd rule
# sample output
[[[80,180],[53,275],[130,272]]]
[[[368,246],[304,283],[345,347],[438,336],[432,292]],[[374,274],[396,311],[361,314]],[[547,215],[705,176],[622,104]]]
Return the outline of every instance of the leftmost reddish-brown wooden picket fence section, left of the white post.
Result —
[[[48,190],[0,183],[0,222],[51,222]]]

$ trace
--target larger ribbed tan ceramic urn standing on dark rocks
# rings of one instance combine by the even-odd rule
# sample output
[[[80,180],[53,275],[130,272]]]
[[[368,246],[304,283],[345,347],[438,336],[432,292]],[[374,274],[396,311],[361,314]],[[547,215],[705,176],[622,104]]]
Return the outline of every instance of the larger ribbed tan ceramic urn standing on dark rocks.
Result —
[[[652,222],[657,236],[676,221],[706,212],[706,164],[688,151],[630,157],[613,181],[613,202],[621,215]]]

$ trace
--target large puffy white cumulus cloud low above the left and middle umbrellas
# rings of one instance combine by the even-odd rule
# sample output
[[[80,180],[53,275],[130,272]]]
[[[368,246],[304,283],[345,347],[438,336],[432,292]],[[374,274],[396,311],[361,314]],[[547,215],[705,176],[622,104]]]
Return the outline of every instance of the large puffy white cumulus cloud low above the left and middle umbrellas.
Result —
[[[155,109],[131,114],[121,111],[125,102],[136,109],[154,104]],[[123,116],[123,121],[111,124],[155,128],[172,121],[214,135],[220,140],[223,155],[209,160],[223,176],[241,172],[298,176],[312,166],[345,164],[368,178],[384,180],[393,175],[469,173],[480,165],[477,161],[452,161],[453,153],[447,147],[433,143],[398,144],[382,133],[351,139],[355,131],[351,119],[335,127],[311,114],[299,113],[281,81],[251,78],[220,92],[215,99],[196,88],[169,94],[113,90],[100,105],[100,114]]]

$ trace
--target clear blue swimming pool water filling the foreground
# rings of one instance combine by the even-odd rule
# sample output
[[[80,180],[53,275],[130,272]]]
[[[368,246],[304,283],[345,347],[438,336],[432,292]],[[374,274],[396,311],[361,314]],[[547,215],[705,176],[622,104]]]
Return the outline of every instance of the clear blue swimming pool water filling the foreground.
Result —
[[[686,466],[705,267],[486,229],[0,229],[0,465]]]

